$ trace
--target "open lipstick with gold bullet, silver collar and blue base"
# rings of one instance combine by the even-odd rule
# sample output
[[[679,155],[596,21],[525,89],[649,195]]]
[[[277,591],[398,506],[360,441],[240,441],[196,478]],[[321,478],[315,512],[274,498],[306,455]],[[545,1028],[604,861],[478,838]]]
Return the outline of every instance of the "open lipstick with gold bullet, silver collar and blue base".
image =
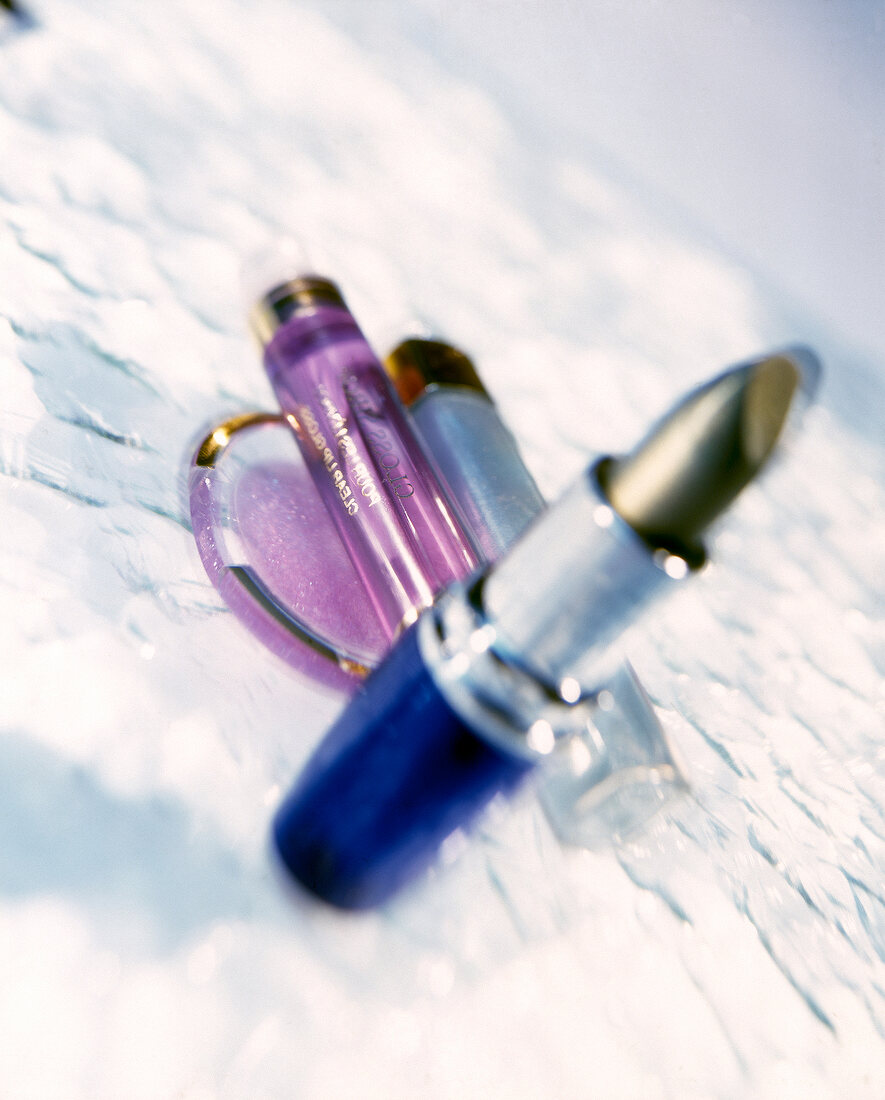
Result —
[[[790,348],[692,392],[595,463],[497,565],[450,586],[366,681],[274,821],[318,898],[366,909],[583,736],[617,642],[707,559],[704,536],[767,463],[819,374]]]

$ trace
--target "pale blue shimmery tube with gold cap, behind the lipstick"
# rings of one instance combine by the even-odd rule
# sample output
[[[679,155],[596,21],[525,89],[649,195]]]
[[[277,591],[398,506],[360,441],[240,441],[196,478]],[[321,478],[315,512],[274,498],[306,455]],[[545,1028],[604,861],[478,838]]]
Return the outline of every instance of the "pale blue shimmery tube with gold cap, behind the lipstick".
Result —
[[[544,498],[476,369],[451,344],[417,337],[385,367],[483,559],[497,561]]]

